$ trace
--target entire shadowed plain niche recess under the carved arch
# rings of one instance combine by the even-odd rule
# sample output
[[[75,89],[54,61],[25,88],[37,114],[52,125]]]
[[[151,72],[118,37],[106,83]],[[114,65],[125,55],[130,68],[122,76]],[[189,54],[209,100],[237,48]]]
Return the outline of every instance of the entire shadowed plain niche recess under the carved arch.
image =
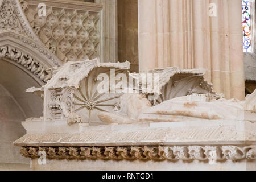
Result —
[[[13,142],[26,134],[21,122],[43,115],[43,101],[26,93],[32,86],[40,86],[28,72],[14,61],[0,59],[0,170],[27,169],[30,160],[22,157]]]

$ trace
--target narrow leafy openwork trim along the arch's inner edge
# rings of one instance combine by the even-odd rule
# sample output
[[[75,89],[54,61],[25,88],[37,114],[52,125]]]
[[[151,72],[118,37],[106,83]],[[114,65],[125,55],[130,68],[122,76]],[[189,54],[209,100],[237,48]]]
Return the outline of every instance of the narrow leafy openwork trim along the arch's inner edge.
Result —
[[[31,73],[38,76],[43,82],[51,79],[52,75],[46,71],[42,64],[35,60],[32,56],[16,49],[12,46],[0,46],[0,59],[7,58],[15,61],[28,69]]]

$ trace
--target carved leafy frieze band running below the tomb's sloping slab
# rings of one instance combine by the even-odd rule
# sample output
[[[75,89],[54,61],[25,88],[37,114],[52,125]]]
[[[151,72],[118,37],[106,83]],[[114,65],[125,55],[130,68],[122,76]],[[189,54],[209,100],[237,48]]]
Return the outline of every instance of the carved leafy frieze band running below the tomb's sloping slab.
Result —
[[[27,158],[39,158],[39,151],[48,159],[103,160],[253,160],[256,146],[114,146],[114,147],[22,147]]]

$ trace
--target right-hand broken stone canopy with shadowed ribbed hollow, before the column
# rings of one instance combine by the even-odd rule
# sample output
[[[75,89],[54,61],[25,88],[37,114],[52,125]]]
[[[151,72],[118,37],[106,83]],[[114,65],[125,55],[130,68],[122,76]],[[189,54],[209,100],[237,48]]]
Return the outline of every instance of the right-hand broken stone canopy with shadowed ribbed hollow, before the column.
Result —
[[[145,93],[149,100],[155,100],[158,104],[171,98],[192,94],[210,93],[214,97],[221,97],[213,91],[212,84],[205,81],[205,69],[167,67],[145,73],[131,73],[130,76],[139,85],[139,92]],[[148,81],[151,79],[153,83]]]

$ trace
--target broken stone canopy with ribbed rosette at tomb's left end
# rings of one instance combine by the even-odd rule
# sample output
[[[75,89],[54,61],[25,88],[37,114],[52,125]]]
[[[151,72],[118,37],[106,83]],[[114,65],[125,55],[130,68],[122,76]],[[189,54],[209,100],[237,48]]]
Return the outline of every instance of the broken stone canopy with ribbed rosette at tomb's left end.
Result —
[[[98,111],[114,111],[121,95],[98,92],[101,82],[98,75],[104,73],[110,78],[111,68],[116,74],[128,74],[129,65],[128,62],[100,63],[98,59],[65,63],[40,89],[44,95],[44,119],[62,119],[75,114],[81,122],[98,123]],[[108,79],[103,81],[108,82]],[[27,91],[36,93],[38,89]]]

